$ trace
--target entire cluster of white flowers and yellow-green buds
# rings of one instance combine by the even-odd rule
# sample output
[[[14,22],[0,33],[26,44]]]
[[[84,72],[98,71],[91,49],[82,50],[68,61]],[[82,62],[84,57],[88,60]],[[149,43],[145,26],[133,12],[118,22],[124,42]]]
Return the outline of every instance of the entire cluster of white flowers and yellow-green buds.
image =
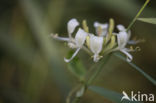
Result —
[[[135,51],[132,48],[126,48],[127,44],[136,44],[138,41],[129,40],[131,31],[126,31],[126,28],[119,24],[116,26],[118,33],[114,32],[114,20],[110,19],[109,23],[101,24],[94,23],[95,34],[89,32],[86,21],[83,21],[83,29],[78,28],[75,37],[72,36],[79,22],[73,18],[67,23],[67,31],[69,37],[59,37],[57,34],[52,34],[52,37],[57,40],[66,41],[68,46],[76,49],[72,57],[64,58],[65,62],[70,62],[80,51],[80,49],[88,49],[93,53],[93,61],[98,62],[105,54],[120,51],[127,56],[127,61],[132,61],[133,57],[129,52]]]

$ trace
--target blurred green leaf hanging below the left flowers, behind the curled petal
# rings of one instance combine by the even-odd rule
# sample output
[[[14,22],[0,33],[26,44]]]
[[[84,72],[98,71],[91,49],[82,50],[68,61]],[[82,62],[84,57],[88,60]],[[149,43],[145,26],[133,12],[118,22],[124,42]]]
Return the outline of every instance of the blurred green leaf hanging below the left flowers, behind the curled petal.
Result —
[[[70,58],[73,54],[73,51],[70,51],[68,54],[68,58]],[[73,60],[68,63],[69,71],[74,74],[79,79],[83,79],[86,73],[86,69],[80,59],[76,56]]]

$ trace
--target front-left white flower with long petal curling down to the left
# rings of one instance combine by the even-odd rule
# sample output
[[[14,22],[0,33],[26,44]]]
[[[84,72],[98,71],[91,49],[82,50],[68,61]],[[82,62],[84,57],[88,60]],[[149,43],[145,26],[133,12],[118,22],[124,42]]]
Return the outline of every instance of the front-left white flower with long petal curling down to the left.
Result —
[[[88,34],[84,30],[79,28],[74,39],[75,46],[77,49],[70,59],[64,58],[65,62],[70,62],[77,55],[77,53],[79,52],[79,50],[82,48],[83,44],[85,43],[87,35]]]

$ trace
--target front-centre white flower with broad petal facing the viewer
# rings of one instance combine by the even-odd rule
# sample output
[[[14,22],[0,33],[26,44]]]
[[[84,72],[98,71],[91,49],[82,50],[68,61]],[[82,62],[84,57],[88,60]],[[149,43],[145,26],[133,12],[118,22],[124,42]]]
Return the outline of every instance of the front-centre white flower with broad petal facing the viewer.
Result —
[[[98,62],[101,58],[99,53],[102,50],[103,46],[103,37],[94,36],[90,34],[90,49],[94,53],[94,62]]]

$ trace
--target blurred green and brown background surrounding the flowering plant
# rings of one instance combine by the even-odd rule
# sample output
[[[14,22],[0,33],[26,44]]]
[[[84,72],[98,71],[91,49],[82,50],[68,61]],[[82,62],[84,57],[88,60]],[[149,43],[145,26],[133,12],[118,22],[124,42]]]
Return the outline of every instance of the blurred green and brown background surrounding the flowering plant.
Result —
[[[50,33],[67,36],[67,22],[86,19],[128,26],[145,0],[0,0],[0,103],[64,103],[77,80],[63,58],[70,50]],[[156,17],[151,0],[140,17]],[[137,21],[132,38],[144,38],[133,62],[156,78],[156,26]],[[85,52],[78,56],[90,66]],[[126,62],[112,56],[93,85],[122,93],[123,90],[156,94],[156,87]],[[112,103],[87,91],[82,103]]]

